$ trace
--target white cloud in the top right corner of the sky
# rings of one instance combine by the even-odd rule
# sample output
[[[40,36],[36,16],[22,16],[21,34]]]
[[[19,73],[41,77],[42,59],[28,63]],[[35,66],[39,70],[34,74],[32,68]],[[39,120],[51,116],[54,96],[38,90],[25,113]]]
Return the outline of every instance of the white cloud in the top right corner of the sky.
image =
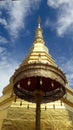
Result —
[[[58,9],[56,30],[59,36],[73,30],[73,0],[48,0],[47,4]]]

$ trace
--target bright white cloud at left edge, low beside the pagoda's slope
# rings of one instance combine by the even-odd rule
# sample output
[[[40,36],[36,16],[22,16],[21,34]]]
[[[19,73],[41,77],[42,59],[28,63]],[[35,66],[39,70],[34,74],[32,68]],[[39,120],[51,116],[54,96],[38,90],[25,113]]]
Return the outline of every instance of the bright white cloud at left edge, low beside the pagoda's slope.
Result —
[[[9,84],[10,77],[13,75],[18,64],[14,61],[10,62],[4,59],[0,65],[0,96],[2,95],[3,88]]]

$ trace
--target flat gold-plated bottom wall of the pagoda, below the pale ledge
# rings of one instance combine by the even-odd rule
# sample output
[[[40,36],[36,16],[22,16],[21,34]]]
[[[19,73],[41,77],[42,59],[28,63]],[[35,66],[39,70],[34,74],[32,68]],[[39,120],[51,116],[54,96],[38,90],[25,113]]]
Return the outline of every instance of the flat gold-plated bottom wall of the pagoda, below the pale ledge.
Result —
[[[35,108],[10,107],[1,130],[35,130]],[[41,108],[41,130],[73,130],[73,113]]]

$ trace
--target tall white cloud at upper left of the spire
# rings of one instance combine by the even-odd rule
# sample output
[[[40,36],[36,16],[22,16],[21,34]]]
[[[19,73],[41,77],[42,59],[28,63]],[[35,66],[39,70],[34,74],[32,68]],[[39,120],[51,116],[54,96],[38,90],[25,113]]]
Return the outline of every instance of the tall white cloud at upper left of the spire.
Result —
[[[12,9],[9,12],[11,17],[9,23],[11,35],[17,37],[18,30],[24,27],[24,17],[26,16],[27,8],[27,6],[24,6],[23,1],[15,1],[13,3]]]

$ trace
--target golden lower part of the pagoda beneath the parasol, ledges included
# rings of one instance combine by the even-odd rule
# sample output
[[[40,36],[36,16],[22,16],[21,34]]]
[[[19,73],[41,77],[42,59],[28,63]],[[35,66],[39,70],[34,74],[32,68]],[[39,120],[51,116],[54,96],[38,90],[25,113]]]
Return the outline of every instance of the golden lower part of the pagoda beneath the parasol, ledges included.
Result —
[[[6,93],[0,97],[0,130],[35,130],[36,105],[16,97],[11,85],[8,87],[11,91],[4,89]],[[61,100],[41,105],[42,130],[73,130],[72,93],[67,88]]]

